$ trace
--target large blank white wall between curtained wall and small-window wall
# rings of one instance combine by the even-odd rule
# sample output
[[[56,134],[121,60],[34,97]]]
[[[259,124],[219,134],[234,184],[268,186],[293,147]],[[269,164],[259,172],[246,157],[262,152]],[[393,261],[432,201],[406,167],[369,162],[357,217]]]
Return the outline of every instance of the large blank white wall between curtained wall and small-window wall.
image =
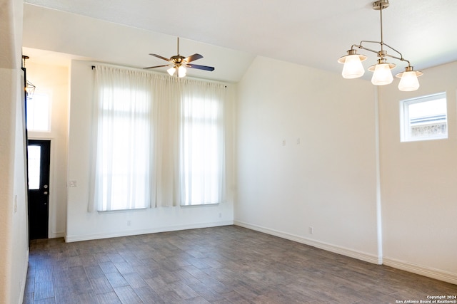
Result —
[[[236,224],[379,263],[371,83],[256,58],[238,88]]]

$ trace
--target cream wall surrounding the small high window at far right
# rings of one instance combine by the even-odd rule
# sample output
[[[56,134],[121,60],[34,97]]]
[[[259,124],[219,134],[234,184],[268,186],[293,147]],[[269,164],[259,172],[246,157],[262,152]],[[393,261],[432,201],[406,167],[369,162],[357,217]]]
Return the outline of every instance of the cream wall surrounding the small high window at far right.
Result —
[[[457,63],[424,70],[421,87],[380,90],[384,263],[457,283]],[[446,92],[448,139],[400,142],[399,102]]]

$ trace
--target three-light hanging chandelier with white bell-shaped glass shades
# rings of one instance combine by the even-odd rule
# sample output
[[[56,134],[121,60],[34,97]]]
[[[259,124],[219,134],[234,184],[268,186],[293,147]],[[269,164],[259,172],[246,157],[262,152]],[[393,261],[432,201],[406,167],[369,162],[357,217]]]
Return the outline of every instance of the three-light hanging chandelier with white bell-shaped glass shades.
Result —
[[[366,56],[359,55],[357,53],[355,48],[359,48],[361,50],[376,53],[379,57],[378,62],[368,68],[368,70],[373,72],[373,77],[371,78],[371,83],[373,83],[373,85],[388,85],[392,83],[393,76],[391,70],[395,68],[396,65],[394,63],[388,63],[386,58],[388,57],[408,63],[405,71],[396,75],[396,77],[401,78],[400,83],[398,83],[398,89],[401,91],[417,90],[419,88],[417,78],[418,76],[423,75],[423,73],[418,70],[414,70],[411,63],[403,58],[403,55],[401,55],[400,52],[383,42],[383,9],[387,9],[388,6],[388,0],[378,0],[373,2],[373,9],[379,11],[381,16],[381,41],[361,41],[359,44],[353,44],[351,49],[348,50],[348,54],[338,59],[338,63],[344,64],[341,75],[343,75],[343,78],[353,79],[359,78],[365,73],[361,62],[366,60]],[[381,51],[374,51],[371,48],[366,48],[365,46],[362,46],[363,43],[378,43],[381,46]],[[392,56],[384,50],[384,47],[391,49],[391,51],[398,55]]]

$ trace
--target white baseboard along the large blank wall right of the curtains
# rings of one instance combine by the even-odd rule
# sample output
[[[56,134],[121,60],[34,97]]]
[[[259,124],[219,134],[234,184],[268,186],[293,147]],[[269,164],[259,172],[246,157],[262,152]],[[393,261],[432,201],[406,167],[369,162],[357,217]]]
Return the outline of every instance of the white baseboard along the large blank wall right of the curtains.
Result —
[[[296,235],[293,235],[293,234],[288,234],[286,232],[277,231],[277,230],[274,230],[274,229],[269,229],[269,228],[266,228],[266,227],[263,227],[263,226],[257,226],[257,225],[253,225],[253,224],[244,223],[242,221],[233,221],[233,224],[235,224],[237,226],[241,226],[241,227],[247,228],[247,229],[260,231],[260,232],[263,232],[265,234],[271,234],[273,236],[278,236],[278,237],[283,238],[283,239],[296,241],[298,243],[304,243],[304,244],[309,245],[309,246],[313,246],[313,247],[316,247],[316,248],[321,248],[323,250],[331,251],[333,253],[338,253],[338,254],[341,254],[343,256],[348,256],[350,258],[357,258],[358,260],[361,260],[361,261],[366,261],[366,262],[369,262],[369,263],[374,263],[374,264],[379,264],[379,265],[382,263],[382,258],[381,257],[378,257],[378,256],[370,254],[370,253],[365,253],[365,252],[362,252],[362,251],[356,251],[356,250],[353,250],[353,249],[350,249],[350,248],[345,248],[345,247],[342,247],[342,246],[336,246],[336,245],[332,245],[330,243],[316,241],[316,240],[313,240],[313,239],[307,239],[307,238],[303,238],[303,236],[296,236]]]

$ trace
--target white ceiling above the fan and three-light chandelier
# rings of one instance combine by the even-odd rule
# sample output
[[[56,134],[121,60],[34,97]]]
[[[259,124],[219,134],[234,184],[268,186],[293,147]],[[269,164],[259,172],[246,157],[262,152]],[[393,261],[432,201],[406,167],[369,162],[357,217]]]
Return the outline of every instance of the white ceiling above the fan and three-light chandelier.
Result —
[[[266,56],[341,73],[337,59],[362,40],[380,41],[379,11],[369,0],[25,0],[94,19],[180,36],[250,56]],[[455,0],[391,0],[383,11],[383,40],[416,70],[457,61]],[[25,18],[25,17],[24,17]],[[24,30],[25,31],[25,30]],[[366,45],[378,51],[376,44]],[[173,49],[176,46],[172,47]],[[144,50],[169,57],[170,51]],[[217,54],[193,53],[211,58]],[[374,64],[376,55],[368,55]],[[388,53],[391,53],[390,51]],[[190,55],[190,54],[189,54]],[[392,55],[396,55],[392,53]],[[155,58],[153,58],[155,60]],[[230,58],[229,58],[230,59]],[[144,65],[161,64],[161,61]],[[395,72],[403,70],[398,63]],[[214,65],[209,61],[197,64]]]

